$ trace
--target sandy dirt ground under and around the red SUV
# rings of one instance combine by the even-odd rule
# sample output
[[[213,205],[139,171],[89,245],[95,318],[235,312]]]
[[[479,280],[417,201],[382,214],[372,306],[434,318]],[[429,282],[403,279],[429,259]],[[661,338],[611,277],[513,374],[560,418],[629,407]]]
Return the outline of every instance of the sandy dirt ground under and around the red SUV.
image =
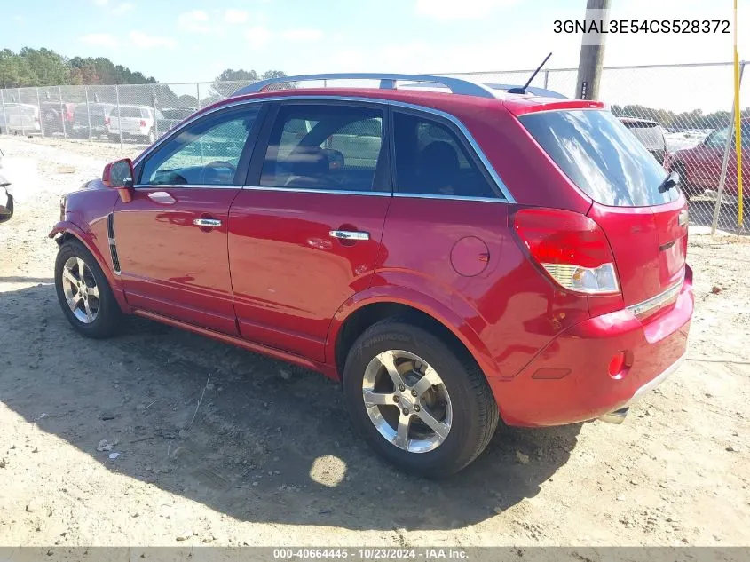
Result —
[[[138,148],[0,148],[28,184],[0,226],[0,545],[750,544],[750,240],[692,236],[689,360],[625,423],[503,428],[433,482],[372,454],[322,376],[148,321],[77,336],[59,195]]]

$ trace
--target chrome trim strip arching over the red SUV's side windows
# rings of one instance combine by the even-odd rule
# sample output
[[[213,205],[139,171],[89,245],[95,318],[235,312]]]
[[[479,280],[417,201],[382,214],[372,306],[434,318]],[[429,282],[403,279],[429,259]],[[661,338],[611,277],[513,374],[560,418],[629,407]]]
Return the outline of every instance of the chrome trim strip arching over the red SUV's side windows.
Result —
[[[403,101],[397,101],[395,99],[366,98],[366,97],[361,97],[361,96],[321,96],[321,95],[304,95],[304,94],[299,94],[295,96],[279,96],[279,97],[274,96],[270,98],[257,98],[257,99],[237,99],[237,100],[225,103],[219,107],[214,107],[213,109],[210,109],[209,111],[202,113],[200,115],[193,115],[193,117],[190,117],[185,123],[182,123],[179,129],[175,131],[170,131],[169,135],[165,135],[164,137],[162,137],[162,139],[159,139],[158,141],[156,141],[154,145],[149,146],[144,153],[140,154],[138,158],[136,158],[135,162],[133,162],[133,166],[138,166],[138,164],[140,164],[140,162],[142,162],[149,154],[157,150],[159,146],[162,145],[163,142],[171,138],[173,135],[178,135],[186,127],[190,126],[198,119],[202,119],[206,115],[212,115],[218,111],[223,111],[224,109],[228,107],[237,107],[237,106],[243,106],[246,104],[275,102],[275,101],[289,101],[289,100],[358,101],[358,102],[364,102],[364,103],[369,103],[373,105],[382,104],[382,105],[392,106],[392,107],[404,107],[406,109],[412,109],[414,111],[420,111],[420,112],[428,113],[431,115],[438,115],[438,117],[442,117],[443,119],[446,119],[450,121],[451,123],[453,123],[458,128],[458,130],[461,131],[463,138],[467,140],[467,142],[471,146],[471,149],[474,151],[474,154],[478,156],[479,161],[482,162],[482,165],[485,167],[485,170],[489,174],[490,178],[492,178],[495,186],[498,188],[500,193],[505,197],[504,200],[498,198],[497,202],[506,202],[506,203],[516,202],[516,199],[513,197],[512,194],[510,194],[508,186],[506,186],[505,183],[502,181],[502,179],[500,178],[500,175],[497,173],[497,170],[493,168],[485,152],[478,145],[477,140],[474,139],[470,131],[466,128],[466,125],[464,125],[458,117],[456,117],[455,115],[446,113],[445,111],[440,111],[439,109],[435,109],[434,107],[419,106],[416,104],[406,103]],[[315,193],[324,193],[323,191],[317,191],[317,190],[313,190],[313,191],[315,191]],[[343,193],[343,192],[333,192],[333,193]],[[361,193],[368,193],[368,192],[361,192]],[[460,196],[450,197],[450,198],[472,199],[471,197],[462,198]],[[495,200],[492,200],[492,201],[495,201]]]

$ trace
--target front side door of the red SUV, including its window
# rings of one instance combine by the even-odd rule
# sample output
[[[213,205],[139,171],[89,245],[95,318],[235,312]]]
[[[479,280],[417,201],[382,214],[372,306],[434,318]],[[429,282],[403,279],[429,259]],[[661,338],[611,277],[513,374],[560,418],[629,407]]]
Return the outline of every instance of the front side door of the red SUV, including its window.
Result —
[[[227,228],[249,163],[257,107],[206,115],[138,163],[132,201],[114,208],[130,305],[238,333]]]

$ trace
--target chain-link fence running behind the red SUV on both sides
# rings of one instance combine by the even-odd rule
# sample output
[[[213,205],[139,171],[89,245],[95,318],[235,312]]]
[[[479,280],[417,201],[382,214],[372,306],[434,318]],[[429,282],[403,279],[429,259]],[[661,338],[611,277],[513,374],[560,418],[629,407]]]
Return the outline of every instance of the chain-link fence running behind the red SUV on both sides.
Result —
[[[743,67],[745,63],[742,63]],[[491,84],[523,84],[531,70],[451,74]],[[738,170],[730,63],[604,68],[600,98],[667,170],[682,178],[691,221],[750,232],[738,220]],[[577,69],[542,70],[532,86],[573,98]],[[201,107],[249,81],[0,90],[0,131],[91,142],[147,145]],[[315,83],[320,87],[320,83]],[[750,95],[743,88],[744,199],[750,199]],[[725,173],[722,173],[725,170]],[[722,192],[721,198],[719,192]],[[746,213],[745,215],[747,215]],[[744,229],[743,229],[744,226]]]

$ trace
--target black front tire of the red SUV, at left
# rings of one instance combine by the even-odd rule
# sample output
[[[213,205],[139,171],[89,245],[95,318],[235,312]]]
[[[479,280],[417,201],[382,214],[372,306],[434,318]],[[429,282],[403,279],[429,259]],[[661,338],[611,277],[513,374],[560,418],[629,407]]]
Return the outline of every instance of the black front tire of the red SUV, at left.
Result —
[[[84,310],[83,301],[79,298],[74,312],[71,305],[68,305],[68,294],[73,286],[70,285],[70,281],[63,281],[63,272],[68,263],[77,263],[79,265],[74,265],[74,271],[69,272],[74,277],[77,277],[80,273],[81,261],[84,264],[83,279],[87,287],[84,290],[89,292],[89,295],[86,297],[88,304]],[[99,298],[94,297],[92,290],[94,288],[98,289]],[[57,292],[59,305],[67,321],[80,334],[86,337],[101,339],[114,336],[117,333],[122,323],[120,305],[114,299],[107,277],[99,267],[97,260],[81,242],[68,240],[60,246],[58,257],[55,260],[55,291]],[[82,317],[86,316],[88,311],[91,312],[93,318],[91,321],[88,319],[84,321]]]

